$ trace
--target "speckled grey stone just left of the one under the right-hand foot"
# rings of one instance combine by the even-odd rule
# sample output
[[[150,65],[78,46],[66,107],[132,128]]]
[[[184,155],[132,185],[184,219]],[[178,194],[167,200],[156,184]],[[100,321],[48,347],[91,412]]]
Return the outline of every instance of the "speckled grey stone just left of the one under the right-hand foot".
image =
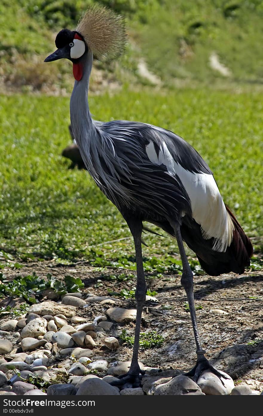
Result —
[[[155,388],[155,396],[184,396],[187,395],[204,395],[200,387],[189,377],[182,374],[174,377],[165,384],[159,384]]]

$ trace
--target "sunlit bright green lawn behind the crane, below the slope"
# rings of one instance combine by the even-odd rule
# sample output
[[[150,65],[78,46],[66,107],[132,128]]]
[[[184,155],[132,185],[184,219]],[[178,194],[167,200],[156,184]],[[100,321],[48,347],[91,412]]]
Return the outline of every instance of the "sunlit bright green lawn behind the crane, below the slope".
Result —
[[[91,97],[90,107],[95,119],[145,121],[183,136],[209,163],[225,203],[262,248],[260,93],[185,89],[162,95],[123,89]],[[133,241],[120,213],[86,171],[69,170],[60,156],[70,142],[68,124],[67,97],[0,98],[0,262],[13,259],[15,267],[17,258],[84,258],[97,267],[134,270]],[[123,237],[128,238],[106,244]],[[144,240],[146,271],[181,272],[174,240],[155,235]],[[192,268],[199,274],[195,260]]]

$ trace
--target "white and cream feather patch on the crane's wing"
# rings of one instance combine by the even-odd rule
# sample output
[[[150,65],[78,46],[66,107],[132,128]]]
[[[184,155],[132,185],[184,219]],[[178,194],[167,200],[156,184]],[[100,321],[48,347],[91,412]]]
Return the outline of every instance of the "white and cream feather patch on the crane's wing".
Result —
[[[188,193],[194,220],[201,225],[205,239],[214,238],[213,249],[225,252],[231,244],[233,223],[224,205],[213,175],[192,173],[184,169],[167,149],[165,141],[159,156],[152,141],[146,146],[146,153],[152,163],[165,165],[170,175],[178,175]]]

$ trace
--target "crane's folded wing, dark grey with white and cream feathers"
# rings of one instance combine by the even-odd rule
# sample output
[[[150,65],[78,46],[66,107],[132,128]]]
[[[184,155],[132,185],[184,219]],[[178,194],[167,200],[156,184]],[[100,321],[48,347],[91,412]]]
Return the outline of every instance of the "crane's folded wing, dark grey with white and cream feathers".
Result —
[[[152,200],[160,194],[163,205],[174,187],[169,202],[177,215],[192,215],[201,225],[203,237],[214,238],[214,250],[226,250],[233,224],[209,166],[192,146],[171,131],[150,124],[111,121],[100,129],[111,138],[114,159],[118,160],[114,169],[122,183],[125,171],[133,182],[133,192],[141,187],[147,193],[150,186]],[[171,215],[171,210],[166,215]]]

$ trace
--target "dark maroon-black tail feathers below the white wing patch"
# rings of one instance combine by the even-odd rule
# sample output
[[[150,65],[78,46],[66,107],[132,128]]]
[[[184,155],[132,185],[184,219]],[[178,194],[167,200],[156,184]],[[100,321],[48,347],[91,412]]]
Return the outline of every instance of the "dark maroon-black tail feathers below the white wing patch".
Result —
[[[213,250],[214,239],[205,240],[201,227],[192,218],[185,215],[181,225],[182,238],[188,247],[196,253],[202,269],[210,276],[219,276],[222,273],[234,272],[241,275],[245,267],[250,265],[253,254],[251,241],[246,236],[234,215],[228,207],[227,212],[234,224],[233,238],[225,253]],[[167,233],[174,235],[168,222],[159,224]]]

